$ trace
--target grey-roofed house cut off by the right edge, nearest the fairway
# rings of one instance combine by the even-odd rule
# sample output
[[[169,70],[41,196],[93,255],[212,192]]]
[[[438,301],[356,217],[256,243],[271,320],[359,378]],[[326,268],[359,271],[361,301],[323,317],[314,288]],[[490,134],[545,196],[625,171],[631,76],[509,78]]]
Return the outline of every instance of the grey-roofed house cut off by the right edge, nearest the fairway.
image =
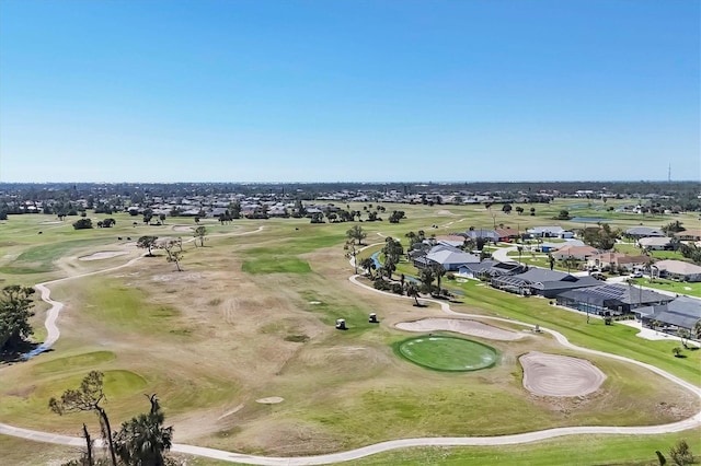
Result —
[[[683,328],[692,330],[701,319],[701,300],[679,296],[664,304],[650,305],[635,310],[635,315],[644,327],[663,327],[665,331]]]

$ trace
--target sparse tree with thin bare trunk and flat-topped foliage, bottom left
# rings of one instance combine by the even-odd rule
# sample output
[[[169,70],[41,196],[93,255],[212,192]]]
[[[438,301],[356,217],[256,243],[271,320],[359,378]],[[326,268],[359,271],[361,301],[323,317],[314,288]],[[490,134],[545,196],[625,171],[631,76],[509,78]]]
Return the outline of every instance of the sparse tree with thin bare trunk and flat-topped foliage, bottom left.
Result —
[[[59,416],[67,412],[78,411],[95,411],[100,419],[102,434],[107,439],[107,447],[110,448],[110,457],[113,466],[117,466],[117,457],[115,455],[114,440],[112,436],[112,427],[110,418],[105,409],[100,404],[106,399],[103,391],[104,374],[99,371],[91,371],[80,383],[80,388],[69,388],[61,395],[60,399],[51,397],[48,406],[51,411]]]

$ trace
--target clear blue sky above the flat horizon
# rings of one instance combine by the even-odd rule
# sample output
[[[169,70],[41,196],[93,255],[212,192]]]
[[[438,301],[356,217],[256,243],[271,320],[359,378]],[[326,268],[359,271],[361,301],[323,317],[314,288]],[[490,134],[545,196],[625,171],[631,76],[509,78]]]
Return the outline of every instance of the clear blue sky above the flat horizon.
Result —
[[[701,179],[697,0],[0,1],[0,182]]]

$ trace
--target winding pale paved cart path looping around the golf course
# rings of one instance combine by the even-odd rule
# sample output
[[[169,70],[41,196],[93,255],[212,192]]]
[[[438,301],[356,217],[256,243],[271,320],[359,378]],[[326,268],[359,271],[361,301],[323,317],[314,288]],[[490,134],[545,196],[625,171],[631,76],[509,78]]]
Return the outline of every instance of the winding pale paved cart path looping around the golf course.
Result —
[[[250,232],[248,232],[250,233]],[[111,269],[100,270],[95,272],[85,273],[82,276],[74,276],[69,278],[64,278],[59,280],[54,280],[50,282],[41,283],[37,286],[37,289],[42,291],[42,299],[49,304],[51,304],[51,310],[47,313],[46,318],[46,328],[49,329],[49,337],[47,337],[47,342],[53,345],[56,339],[59,337],[58,328],[56,327],[56,318],[58,313],[60,312],[62,304],[56,301],[50,300],[49,298],[49,289],[46,288],[47,284],[56,283],[58,281],[84,277],[88,275],[101,273],[107,270],[118,269],[120,267],[127,267],[131,265],[134,261],[139,258],[133,259],[127,264],[124,264],[118,267],[114,267]],[[349,280],[358,286],[363,287],[367,290],[371,290],[374,292],[384,293],[387,295],[397,298],[397,299],[405,299],[413,300],[413,298],[409,296],[398,296],[393,293],[388,293],[383,291],[375,290],[372,287],[368,287],[367,284],[360,283],[357,280],[358,276],[352,276]],[[425,302],[433,302],[440,305],[440,308],[451,315],[460,315],[463,317],[476,317],[481,319],[492,319],[492,321],[501,321],[508,322],[512,324],[519,324],[529,328],[535,328],[533,325],[527,324],[524,322],[503,318],[503,317],[491,317],[479,314],[462,314],[450,308],[450,305],[444,301],[433,300],[433,299],[422,299]],[[50,323],[49,323],[50,321]],[[604,351],[597,351],[588,348],[577,347],[571,343],[564,335],[550,330],[548,328],[540,329],[544,333],[552,335],[558,342],[560,342],[565,348],[571,348],[577,350],[579,352],[596,354],[600,357],[611,358],[618,361],[623,361],[630,364],[635,364],[637,366],[644,368],[648,371],[652,371],[677,385],[687,388],[692,392],[697,397],[701,398],[701,387],[691,384],[682,378],[677,377],[676,375],[669,374],[662,369],[658,369],[654,365],[646,364],[644,362],[635,361],[630,358],[625,358],[618,354],[610,354]],[[45,345],[47,343],[45,342]],[[49,345],[50,346],[50,345]],[[671,422],[667,424],[659,426],[644,426],[644,427],[608,427],[608,426],[579,426],[579,427],[567,427],[567,428],[554,428],[554,429],[545,429],[535,432],[525,432],[513,435],[497,435],[497,436],[445,436],[445,438],[421,438],[421,439],[400,439],[392,440],[388,442],[376,443],[374,445],[364,446],[361,448],[349,450],[346,452],[332,453],[327,455],[317,455],[317,456],[300,456],[300,457],[269,457],[269,456],[255,456],[255,455],[244,455],[239,453],[226,452],[222,450],[215,448],[206,448],[203,446],[195,445],[185,445],[185,444],[173,444],[171,451],[176,453],[185,453],[197,456],[205,456],[209,458],[215,458],[225,462],[231,463],[248,463],[253,465],[288,465],[288,466],[302,466],[302,465],[323,465],[323,464],[332,464],[346,462],[350,459],[358,459],[364,456],[374,455],[377,453],[388,452],[397,448],[406,448],[406,447],[415,447],[415,446],[494,446],[494,445],[512,445],[519,443],[530,443],[538,442],[541,440],[553,439],[563,435],[579,435],[579,434],[627,434],[627,435],[655,435],[662,433],[670,433],[670,432],[680,432],[693,428],[701,427],[701,412],[692,416],[691,418],[683,419],[678,422]],[[28,429],[21,429],[16,427],[12,427],[9,424],[0,423],[0,434],[19,436],[27,440],[33,440],[36,442],[46,442],[46,443],[56,443],[62,445],[71,445],[71,446],[82,446],[83,440],[81,438],[68,436],[68,435],[57,435],[47,432],[38,432]],[[100,444],[100,443],[99,443]]]

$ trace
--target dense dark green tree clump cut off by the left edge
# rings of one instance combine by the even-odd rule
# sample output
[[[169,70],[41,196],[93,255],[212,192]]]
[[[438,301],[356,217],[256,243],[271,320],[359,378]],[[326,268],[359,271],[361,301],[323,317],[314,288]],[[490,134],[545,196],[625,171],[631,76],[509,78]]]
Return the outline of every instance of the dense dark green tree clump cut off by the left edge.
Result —
[[[30,325],[34,289],[10,284],[0,294],[0,352],[14,350],[34,330]]]

